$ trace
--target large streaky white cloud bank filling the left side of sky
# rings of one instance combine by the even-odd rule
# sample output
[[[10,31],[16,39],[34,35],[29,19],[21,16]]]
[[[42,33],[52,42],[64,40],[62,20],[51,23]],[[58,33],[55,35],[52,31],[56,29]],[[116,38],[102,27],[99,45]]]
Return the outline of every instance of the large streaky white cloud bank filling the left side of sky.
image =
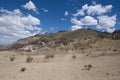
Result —
[[[40,20],[30,14],[23,15],[19,9],[8,11],[0,9],[0,39],[1,43],[11,43],[40,32]],[[4,42],[3,42],[4,41]]]

